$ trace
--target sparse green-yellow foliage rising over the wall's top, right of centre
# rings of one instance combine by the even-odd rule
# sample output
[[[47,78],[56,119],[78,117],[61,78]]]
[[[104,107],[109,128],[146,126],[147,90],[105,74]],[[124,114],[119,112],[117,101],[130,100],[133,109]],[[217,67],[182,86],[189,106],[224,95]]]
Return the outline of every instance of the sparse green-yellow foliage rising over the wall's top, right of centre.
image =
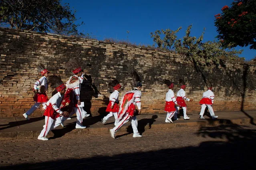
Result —
[[[194,63],[196,68],[202,66],[207,69],[212,64],[218,66],[220,59],[231,59],[231,60],[244,60],[239,58],[238,54],[242,51],[236,51],[235,49],[224,49],[220,42],[202,42],[204,38],[204,32],[199,38],[190,36],[192,26],[188,26],[186,34],[183,38],[177,39],[177,32],[181,30],[181,27],[177,30],[156,30],[154,33],[151,32],[151,38],[153,42],[157,44],[160,49],[174,50],[177,53],[183,54],[186,60]],[[163,34],[163,38],[161,36]]]

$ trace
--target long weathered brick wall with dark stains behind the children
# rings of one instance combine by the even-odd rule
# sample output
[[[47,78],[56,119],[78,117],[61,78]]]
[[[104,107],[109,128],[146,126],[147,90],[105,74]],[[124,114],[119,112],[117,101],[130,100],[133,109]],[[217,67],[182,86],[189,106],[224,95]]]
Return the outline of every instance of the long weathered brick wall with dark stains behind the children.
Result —
[[[81,61],[87,72],[81,101],[85,101],[85,110],[93,115],[105,111],[111,92],[109,80],[117,78],[125,87],[121,99],[132,88],[129,72],[133,70],[143,80],[142,113],[164,113],[168,88],[163,79],[174,81],[177,93],[179,78],[187,83],[187,97],[194,99],[187,102],[188,113],[200,111],[198,102],[206,90],[203,76],[178,54],[2,28],[0,38],[0,117],[22,116],[34,104],[32,87],[41,77],[37,71],[39,61],[66,82],[71,71],[65,70],[64,65],[73,57]],[[215,111],[238,111],[242,105],[245,110],[256,109],[255,65],[222,62],[218,69],[213,67],[204,76],[214,80]],[[33,115],[42,113],[37,110]]]

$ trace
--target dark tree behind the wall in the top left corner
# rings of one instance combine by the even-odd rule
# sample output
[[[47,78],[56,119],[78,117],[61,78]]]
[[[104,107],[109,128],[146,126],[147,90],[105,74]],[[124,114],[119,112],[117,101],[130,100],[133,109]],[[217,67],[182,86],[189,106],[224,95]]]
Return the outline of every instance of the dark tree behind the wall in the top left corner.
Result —
[[[1,26],[17,30],[84,36],[75,24],[75,12],[60,0],[0,0]]]

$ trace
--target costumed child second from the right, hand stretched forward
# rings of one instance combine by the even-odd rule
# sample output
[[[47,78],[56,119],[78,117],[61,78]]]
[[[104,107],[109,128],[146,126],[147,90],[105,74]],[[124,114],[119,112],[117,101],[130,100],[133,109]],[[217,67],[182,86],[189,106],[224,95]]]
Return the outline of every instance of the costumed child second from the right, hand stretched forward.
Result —
[[[179,107],[182,107],[182,109],[183,109],[183,119],[187,120],[187,119],[190,119],[190,118],[187,116],[187,105],[185,103],[185,100],[186,101],[193,101],[193,99],[189,99],[189,98],[186,97],[185,82],[182,79],[179,79],[179,83],[180,83],[181,86],[180,86],[179,91],[177,92],[177,104],[179,105]],[[178,111],[179,111],[179,107],[177,107]]]

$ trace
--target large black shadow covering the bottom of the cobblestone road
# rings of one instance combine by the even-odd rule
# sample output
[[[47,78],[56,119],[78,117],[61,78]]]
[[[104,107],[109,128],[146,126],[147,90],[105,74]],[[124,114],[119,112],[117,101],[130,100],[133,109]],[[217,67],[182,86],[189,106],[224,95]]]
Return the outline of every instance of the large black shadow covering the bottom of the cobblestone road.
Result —
[[[218,127],[201,127],[196,134],[200,137],[226,139],[226,142],[223,140],[207,141],[200,143],[199,146],[118,155],[106,153],[109,156],[99,155],[81,159],[67,156],[65,160],[18,164],[1,167],[1,169],[240,170],[255,168],[256,130],[230,123]],[[145,137],[144,140],[146,142],[147,138]],[[131,147],[136,147],[136,139]]]

